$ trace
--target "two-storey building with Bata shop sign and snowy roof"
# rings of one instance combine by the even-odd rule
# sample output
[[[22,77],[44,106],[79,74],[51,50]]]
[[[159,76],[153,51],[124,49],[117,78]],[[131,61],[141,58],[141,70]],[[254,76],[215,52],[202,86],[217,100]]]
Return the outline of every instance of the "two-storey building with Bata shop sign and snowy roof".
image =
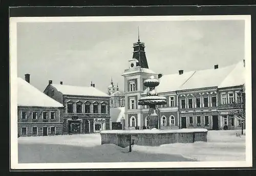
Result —
[[[111,128],[110,96],[95,88],[53,84],[49,81],[45,94],[61,102],[63,134],[99,133]]]

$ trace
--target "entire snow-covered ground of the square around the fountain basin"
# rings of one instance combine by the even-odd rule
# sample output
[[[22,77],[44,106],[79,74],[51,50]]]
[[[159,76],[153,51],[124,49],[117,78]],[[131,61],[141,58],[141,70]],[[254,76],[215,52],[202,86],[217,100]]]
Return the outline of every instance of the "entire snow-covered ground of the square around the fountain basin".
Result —
[[[101,145],[100,134],[18,138],[19,163],[244,161],[245,136],[241,130],[208,131],[208,142],[134,145],[121,148]]]

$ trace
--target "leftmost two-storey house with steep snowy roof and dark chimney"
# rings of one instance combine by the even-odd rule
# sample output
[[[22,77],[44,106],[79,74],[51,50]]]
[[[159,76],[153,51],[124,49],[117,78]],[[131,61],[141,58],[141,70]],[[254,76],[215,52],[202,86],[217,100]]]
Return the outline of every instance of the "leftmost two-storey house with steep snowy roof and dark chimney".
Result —
[[[25,80],[18,78],[18,136],[62,135],[63,105],[32,86],[29,74]]]

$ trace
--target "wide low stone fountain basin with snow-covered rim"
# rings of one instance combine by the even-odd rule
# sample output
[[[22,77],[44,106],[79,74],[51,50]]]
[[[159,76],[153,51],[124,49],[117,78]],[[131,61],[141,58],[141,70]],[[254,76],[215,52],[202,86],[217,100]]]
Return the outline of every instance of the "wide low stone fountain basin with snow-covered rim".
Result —
[[[129,146],[129,139],[134,140],[135,145],[160,146],[173,143],[207,142],[205,128],[195,129],[143,129],[143,130],[103,130],[100,132],[101,144],[115,144],[120,147]]]

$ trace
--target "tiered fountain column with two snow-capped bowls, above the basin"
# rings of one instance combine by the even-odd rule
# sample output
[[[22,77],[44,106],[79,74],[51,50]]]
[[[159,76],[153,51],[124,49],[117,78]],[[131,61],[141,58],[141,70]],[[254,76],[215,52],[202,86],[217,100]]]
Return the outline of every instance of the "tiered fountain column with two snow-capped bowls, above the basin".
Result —
[[[139,99],[139,105],[148,105],[150,110],[148,111],[147,123],[150,129],[152,128],[160,128],[159,118],[156,113],[156,105],[166,104],[166,98],[162,96],[158,96],[155,87],[159,85],[159,81],[155,79],[154,76],[151,76],[149,79],[144,80],[143,84],[146,87],[149,87],[149,91],[147,92],[145,97]]]

